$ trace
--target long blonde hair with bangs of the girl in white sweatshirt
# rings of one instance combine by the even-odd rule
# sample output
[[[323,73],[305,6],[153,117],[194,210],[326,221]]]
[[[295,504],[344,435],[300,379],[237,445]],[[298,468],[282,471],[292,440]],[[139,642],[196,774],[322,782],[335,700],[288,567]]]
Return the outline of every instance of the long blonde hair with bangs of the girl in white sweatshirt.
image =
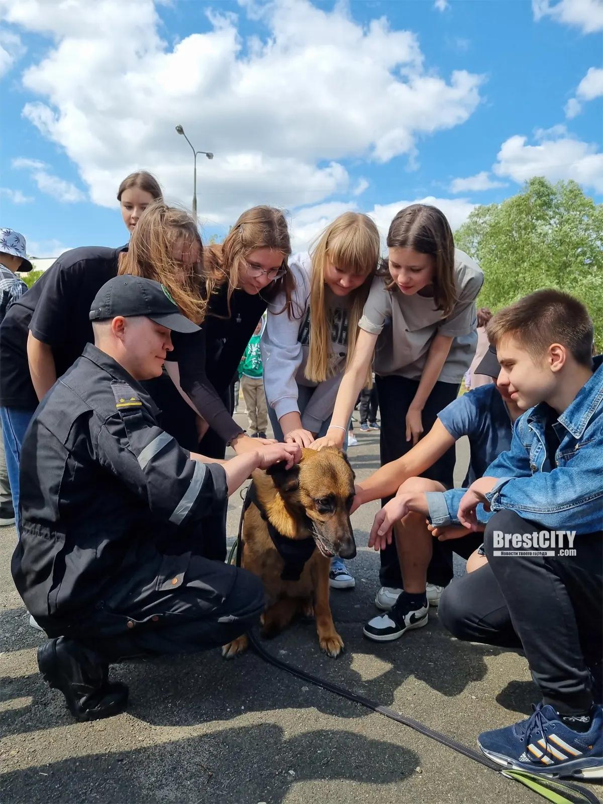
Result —
[[[306,377],[322,383],[330,370],[331,311],[325,301],[325,267],[329,260],[345,273],[365,277],[359,288],[350,293],[347,325],[347,361],[354,353],[358,338],[358,322],[363,314],[371,283],[366,279],[379,264],[381,243],[374,221],[360,212],[344,212],[318,236],[310,249],[312,279],[310,281],[310,350]],[[369,378],[370,379],[370,378]]]

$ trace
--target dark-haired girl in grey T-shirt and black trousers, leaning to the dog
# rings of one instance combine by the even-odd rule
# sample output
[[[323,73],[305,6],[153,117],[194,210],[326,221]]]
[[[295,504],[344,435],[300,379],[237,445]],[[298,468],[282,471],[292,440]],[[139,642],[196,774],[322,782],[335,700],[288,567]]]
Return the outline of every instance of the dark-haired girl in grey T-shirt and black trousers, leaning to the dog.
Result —
[[[475,354],[475,299],[484,279],[479,265],[454,248],[449,223],[437,207],[412,204],[400,210],[387,243],[389,260],[372,282],[330,429],[312,445],[341,447],[341,429],[366,384],[374,354],[382,466],[408,453],[424,430],[433,427],[437,414],[457,398]],[[425,477],[452,488],[455,461],[452,444]],[[382,500],[383,505],[387,502]],[[433,605],[453,576],[449,556],[438,544],[428,573],[427,594]],[[381,587],[375,603],[387,610],[402,591],[396,544],[388,544],[380,559]]]

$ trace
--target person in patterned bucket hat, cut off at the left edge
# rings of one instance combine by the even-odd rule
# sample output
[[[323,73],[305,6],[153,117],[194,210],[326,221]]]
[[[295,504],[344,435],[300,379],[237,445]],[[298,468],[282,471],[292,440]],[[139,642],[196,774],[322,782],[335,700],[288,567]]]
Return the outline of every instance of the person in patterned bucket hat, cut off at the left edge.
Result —
[[[17,271],[31,271],[27,259],[26,241],[14,229],[0,229],[0,323],[13,301],[23,296],[27,285],[17,275]],[[9,461],[13,460],[9,453]],[[18,466],[11,466],[10,474],[18,473]],[[13,499],[10,493],[10,475],[6,466],[4,437],[0,424],[0,527],[14,524]]]

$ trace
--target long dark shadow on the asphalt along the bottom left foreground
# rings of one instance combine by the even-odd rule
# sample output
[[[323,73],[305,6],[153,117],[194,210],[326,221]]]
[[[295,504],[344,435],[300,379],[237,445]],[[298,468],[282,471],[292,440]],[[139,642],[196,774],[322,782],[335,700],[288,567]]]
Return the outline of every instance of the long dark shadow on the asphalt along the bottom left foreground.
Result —
[[[367,757],[373,757],[368,765]],[[298,781],[400,783],[419,764],[413,751],[359,734],[321,729],[285,739],[279,726],[261,724],[6,773],[2,795],[6,801],[68,804],[277,804]],[[135,768],[144,768],[144,777],[133,774]]]

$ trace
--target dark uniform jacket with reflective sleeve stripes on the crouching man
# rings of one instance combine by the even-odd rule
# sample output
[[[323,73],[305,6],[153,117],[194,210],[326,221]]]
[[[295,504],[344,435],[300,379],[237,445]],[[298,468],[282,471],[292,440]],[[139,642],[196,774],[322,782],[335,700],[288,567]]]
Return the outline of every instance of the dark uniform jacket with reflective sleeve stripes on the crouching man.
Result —
[[[112,609],[137,577],[174,590],[201,539],[224,541],[224,532],[200,530],[224,510],[224,469],[191,460],[159,428],[158,413],[92,344],[36,410],[23,441],[11,570],[42,625]],[[228,591],[217,590],[219,601]]]

